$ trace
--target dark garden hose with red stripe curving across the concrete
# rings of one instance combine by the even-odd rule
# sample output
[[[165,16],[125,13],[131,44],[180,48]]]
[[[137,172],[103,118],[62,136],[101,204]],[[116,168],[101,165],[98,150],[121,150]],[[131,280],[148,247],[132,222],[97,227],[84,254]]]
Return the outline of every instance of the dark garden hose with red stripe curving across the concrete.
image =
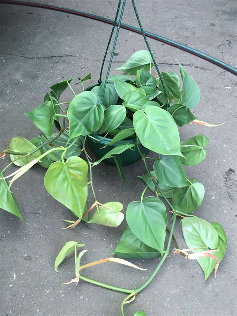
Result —
[[[26,1],[10,1],[10,0],[0,0],[0,3],[25,5],[25,6],[32,6],[32,7],[38,7],[38,8],[54,10],[54,11],[60,11],[60,12],[64,12],[64,13],[70,13],[70,14],[74,14],[74,15],[87,17],[87,18],[94,19],[94,20],[97,20],[97,21],[100,21],[100,22],[104,22],[104,23],[107,23],[107,24],[113,24],[113,22],[114,22],[113,20],[108,19],[106,17],[102,17],[102,16],[98,16],[98,15],[95,15],[95,14],[90,14],[90,13],[86,13],[86,12],[82,12],[82,11],[78,11],[78,10],[73,10],[73,9],[69,9],[69,8],[59,7],[59,6],[56,6],[56,5],[41,4],[41,3],[26,2]],[[127,29],[129,31],[134,32],[134,33],[141,34],[141,31],[140,31],[139,28],[131,26],[131,25],[127,25],[127,24],[122,23],[121,24],[121,28]],[[208,62],[211,62],[211,63],[213,63],[213,64],[225,69],[226,71],[229,71],[229,72],[237,75],[237,68],[234,68],[234,67],[230,66],[229,64],[227,64],[227,63],[225,63],[225,62],[223,62],[223,61],[221,61],[219,59],[216,59],[214,57],[211,57],[211,56],[209,56],[209,55],[207,55],[207,54],[205,54],[205,53],[203,53],[203,52],[201,52],[199,50],[190,48],[190,47],[182,45],[182,44],[180,44],[180,43],[178,43],[176,41],[173,41],[171,39],[165,38],[163,36],[160,36],[160,35],[148,32],[148,31],[145,31],[145,34],[149,38],[161,41],[161,42],[163,42],[163,43],[165,43],[167,45],[170,45],[170,46],[176,47],[178,49],[184,50],[184,51],[186,51],[186,52],[188,52],[188,53],[190,53],[192,55],[200,57],[200,58],[202,58],[202,59],[204,59],[204,60],[206,60]]]

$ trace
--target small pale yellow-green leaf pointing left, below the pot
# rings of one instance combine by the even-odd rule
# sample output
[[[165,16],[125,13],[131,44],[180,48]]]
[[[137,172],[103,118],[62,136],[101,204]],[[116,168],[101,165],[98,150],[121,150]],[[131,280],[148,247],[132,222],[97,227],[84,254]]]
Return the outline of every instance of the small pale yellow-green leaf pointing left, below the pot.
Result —
[[[117,227],[124,219],[121,213],[123,205],[119,202],[108,202],[99,206],[92,219],[88,223],[95,223],[108,227]]]

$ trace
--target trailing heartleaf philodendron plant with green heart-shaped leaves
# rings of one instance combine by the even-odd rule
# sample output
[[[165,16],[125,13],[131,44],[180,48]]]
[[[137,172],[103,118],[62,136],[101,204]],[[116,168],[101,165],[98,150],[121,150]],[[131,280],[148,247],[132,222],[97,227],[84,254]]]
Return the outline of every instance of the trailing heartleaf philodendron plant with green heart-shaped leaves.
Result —
[[[77,284],[82,279],[129,294],[122,302],[122,314],[124,303],[129,298],[133,300],[154,278],[170,252],[172,239],[175,244],[173,253],[196,259],[204,271],[205,280],[213,270],[216,274],[227,245],[220,224],[208,223],[192,214],[201,205],[205,189],[196,178],[188,179],[184,169],[184,166],[197,165],[206,157],[208,138],[198,134],[181,142],[178,131],[178,127],[190,122],[215,125],[196,120],[197,117],[191,112],[199,102],[200,90],[181,65],[181,80],[174,72],[163,72],[156,77],[156,73],[152,73],[152,66],[150,53],[142,50],[134,53],[117,69],[125,74],[111,76],[87,90],[84,90],[84,82],[91,75],[80,79],[75,83],[75,86],[79,84],[82,87],[80,93],[72,87],[72,78],[52,85],[43,104],[26,113],[41,133],[31,140],[23,137],[11,139],[9,148],[0,155],[4,158],[9,154],[10,164],[20,167],[6,176],[8,164],[0,173],[2,209],[22,219],[10,190],[11,185],[38,163],[47,168],[44,178],[46,190],[73,213],[76,219],[67,222],[70,223],[68,228],[75,228],[81,220],[110,227],[121,224],[124,219],[122,203],[97,200],[92,171],[103,160],[114,158],[124,179],[120,154],[125,152],[129,156],[134,150],[140,154],[146,174],[139,177],[146,186],[140,200],[131,202],[127,207],[128,226],[114,250],[114,255],[119,258],[107,258],[81,266],[80,260],[86,250],[80,252],[77,258],[77,248],[84,245],[69,241],[55,261],[57,271],[64,258],[75,252],[76,277],[71,282]],[[61,98],[67,88],[73,93],[72,100]],[[55,128],[57,132],[54,132]],[[110,149],[99,160],[92,161],[86,151],[88,139],[97,143],[106,139],[105,146],[100,143],[101,148]],[[144,149],[146,152],[153,151],[152,157],[144,155]],[[153,160],[153,170],[149,169],[147,159]],[[6,179],[10,177],[12,179],[8,185]],[[92,205],[86,203],[88,185],[94,197]],[[148,189],[150,194],[144,197]],[[164,202],[172,213],[170,228]],[[89,219],[90,212],[94,213]],[[174,237],[177,216],[182,217],[182,231],[188,249],[180,250]],[[158,259],[155,271],[137,289],[111,286],[80,273],[84,268],[108,261],[136,267],[124,259],[158,257],[161,259]]]

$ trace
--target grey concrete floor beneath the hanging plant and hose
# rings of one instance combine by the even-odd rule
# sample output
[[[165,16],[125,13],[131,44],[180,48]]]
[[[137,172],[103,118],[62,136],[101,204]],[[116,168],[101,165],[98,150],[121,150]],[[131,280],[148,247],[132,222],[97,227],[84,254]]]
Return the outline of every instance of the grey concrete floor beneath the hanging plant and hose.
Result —
[[[112,18],[117,1],[38,2]],[[234,0],[136,2],[146,30],[234,65]],[[130,1],[124,22],[137,24]],[[38,131],[23,113],[42,103],[50,85],[88,72],[93,74],[91,82],[97,81],[111,26],[65,13],[3,4],[0,4],[0,26],[0,148],[4,149],[12,137],[20,135],[30,139]],[[137,310],[155,316],[234,315],[235,77],[186,52],[154,40],[150,40],[150,44],[162,71],[178,72],[178,59],[198,82],[202,97],[195,114],[203,115],[201,119],[207,122],[226,122],[222,127],[209,129],[192,124],[180,132],[183,140],[198,133],[209,137],[207,158],[186,170],[189,177],[197,177],[206,189],[196,214],[210,222],[218,221],[225,228],[228,248],[217,279],[211,275],[206,282],[195,261],[170,255],[157,277],[135,302],[125,307],[125,312],[131,316]],[[142,37],[121,30],[113,68],[140,49],[145,49]],[[65,99],[67,97],[71,97],[69,91],[65,94]],[[1,169],[7,161],[0,161]],[[143,183],[135,175],[144,173],[142,162],[126,167],[125,171],[127,182],[124,184],[114,167],[105,163],[96,167],[94,184],[101,202],[119,200],[126,209],[129,202],[139,198]],[[53,263],[59,249],[69,240],[86,244],[88,252],[83,262],[109,256],[111,245],[116,246],[125,222],[118,228],[82,223],[73,231],[62,230],[65,225],[61,218],[73,219],[73,215],[47,194],[43,186],[44,173],[45,169],[35,167],[13,185],[24,222],[0,211],[0,315],[120,315],[124,294],[83,281],[78,287],[62,285],[74,276],[73,258],[61,265],[59,274],[54,272]],[[91,196],[89,200],[92,201]],[[175,235],[180,247],[185,247],[179,221]],[[147,272],[111,263],[91,268],[84,274],[120,287],[134,288],[147,279],[156,261],[134,261],[147,267]]]

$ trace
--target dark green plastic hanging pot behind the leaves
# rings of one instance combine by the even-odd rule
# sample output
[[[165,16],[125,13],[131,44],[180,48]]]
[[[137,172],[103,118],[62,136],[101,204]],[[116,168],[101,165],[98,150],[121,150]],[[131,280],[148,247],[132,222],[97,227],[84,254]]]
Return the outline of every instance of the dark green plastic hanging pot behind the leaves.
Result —
[[[129,143],[129,144],[135,143],[135,139],[125,139],[125,140],[121,140],[121,141],[119,141],[111,146],[108,145],[106,148],[101,149],[101,147],[110,143],[112,141],[112,139],[110,139],[110,138],[103,139],[103,137],[101,137],[99,135],[97,135],[97,137],[96,137],[96,135],[93,135],[93,137],[97,138],[98,140],[87,137],[86,141],[87,141],[87,144],[90,147],[90,149],[94,152],[94,154],[99,159],[102,158],[107,152],[109,152],[112,148],[116,147],[117,145],[121,145],[124,143]],[[103,139],[103,140],[101,140],[101,139]],[[141,144],[139,144],[139,148],[140,148],[141,152],[144,154],[146,154],[150,151],[147,148],[143,147]],[[127,149],[126,151],[124,151],[120,154],[116,154],[116,158],[118,158],[120,160],[121,165],[129,165],[129,164],[133,164],[133,163],[137,162],[138,160],[140,160],[141,156],[136,148],[135,150]],[[115,160],[113,158],[108,158],[108,159],[105,159],[104,161],[108,164],[116,165]]]

